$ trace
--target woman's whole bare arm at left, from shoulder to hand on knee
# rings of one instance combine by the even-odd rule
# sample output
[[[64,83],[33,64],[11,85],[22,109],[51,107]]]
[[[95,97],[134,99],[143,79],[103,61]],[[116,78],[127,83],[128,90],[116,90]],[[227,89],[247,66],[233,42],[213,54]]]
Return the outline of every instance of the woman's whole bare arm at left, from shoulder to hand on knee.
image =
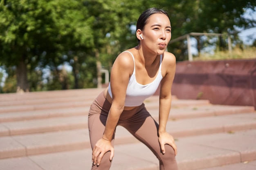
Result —
[[[127,53],[121,53],[113,64],[110,75],[112,105],[108,113],[103,137],[97,141],[92,151],[94,165],[96,163],[99,165],[103,155],[108,151],[110,151],[110,160],[114,157],[114,148],[111,145],[111,141],[119,117],[124,110],[126,89],[133,70],[133,62],[130,64],[131,62],[132,58]]]

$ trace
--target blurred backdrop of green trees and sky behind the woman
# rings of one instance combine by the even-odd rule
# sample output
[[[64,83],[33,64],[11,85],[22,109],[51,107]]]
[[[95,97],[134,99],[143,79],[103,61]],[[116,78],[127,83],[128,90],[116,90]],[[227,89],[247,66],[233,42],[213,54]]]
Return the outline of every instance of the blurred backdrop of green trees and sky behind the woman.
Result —
[[[0,93],[108,84],[150,7],[170,15],[177,62],[189,60],[190,33],[204,33],[191,35],[193,60],[256,58],[255,0],[0,0]]]

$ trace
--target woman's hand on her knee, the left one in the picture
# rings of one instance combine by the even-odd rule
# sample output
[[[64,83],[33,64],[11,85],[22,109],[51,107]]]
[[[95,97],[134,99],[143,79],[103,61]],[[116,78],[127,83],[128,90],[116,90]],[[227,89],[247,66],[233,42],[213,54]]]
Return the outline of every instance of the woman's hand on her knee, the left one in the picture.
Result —
[[[110,161],[112,161],[112,158],[114,157],[114,148],[111,145],[111,141],[108,141],[106,139],[99,139],[97,143],[95,144],[93,150],[92,150],[92,163],[94,165],[101,163],[101,159],[103,158],[104,154],[106,152],[110,151]]]

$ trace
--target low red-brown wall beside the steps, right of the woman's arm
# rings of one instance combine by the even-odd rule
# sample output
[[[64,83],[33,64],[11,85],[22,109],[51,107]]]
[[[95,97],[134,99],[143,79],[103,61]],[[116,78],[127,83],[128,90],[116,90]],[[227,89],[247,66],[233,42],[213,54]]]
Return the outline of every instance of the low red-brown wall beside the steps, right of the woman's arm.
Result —
[[[256,59],[177,62],[172,95],[256,108]]]

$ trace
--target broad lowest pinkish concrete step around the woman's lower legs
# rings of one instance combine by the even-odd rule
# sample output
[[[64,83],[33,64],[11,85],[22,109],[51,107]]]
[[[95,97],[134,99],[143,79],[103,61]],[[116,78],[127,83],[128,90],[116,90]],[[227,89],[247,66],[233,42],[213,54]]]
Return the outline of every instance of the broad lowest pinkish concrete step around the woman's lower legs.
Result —
[[[255,141],[256,130],[179,138],[176,141],[179,170],[236,170],[237,167],[255,170]],[[3,170],[90,170],[91,152],[90,148],[85,148],[0,159],[0,167]],[[110,170],[159,168],[156,157],[146,146],[133,143],[115,146],[115,157]]]

